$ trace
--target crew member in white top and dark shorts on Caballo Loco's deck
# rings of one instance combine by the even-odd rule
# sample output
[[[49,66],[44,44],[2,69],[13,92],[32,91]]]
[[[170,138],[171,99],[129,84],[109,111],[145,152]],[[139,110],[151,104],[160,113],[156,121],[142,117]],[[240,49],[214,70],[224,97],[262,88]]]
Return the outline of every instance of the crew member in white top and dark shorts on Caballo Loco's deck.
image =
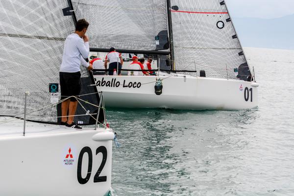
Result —
[[[107,63],[109,62],[109,71],[108,75],[113,75],[113,70],[116,69],[119,72],[118,75],[122,75],[121,69],[123,65],[122,54],[115,51],[115,48],[111,47],[109,53],[105,57],[104,67],[107,69]]]

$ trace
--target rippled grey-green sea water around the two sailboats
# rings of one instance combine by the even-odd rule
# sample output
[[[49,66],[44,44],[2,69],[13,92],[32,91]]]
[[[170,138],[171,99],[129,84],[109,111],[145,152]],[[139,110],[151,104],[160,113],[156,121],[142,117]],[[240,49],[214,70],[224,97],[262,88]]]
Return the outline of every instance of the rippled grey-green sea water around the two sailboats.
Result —
[[[256,109],[107,111],[113,196],[294,196],[294,50],[245,54]]]

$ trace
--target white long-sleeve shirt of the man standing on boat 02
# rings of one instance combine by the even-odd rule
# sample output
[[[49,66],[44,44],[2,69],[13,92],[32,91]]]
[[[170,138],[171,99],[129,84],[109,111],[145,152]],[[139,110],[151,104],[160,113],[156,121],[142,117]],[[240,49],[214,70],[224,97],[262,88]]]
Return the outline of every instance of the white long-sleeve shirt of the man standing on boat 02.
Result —
[[[83,58],[88,58],[89,52],[89,42],[84,42],[76,33],[69,35],[64,43],[62,63],[59,72],[79,72],[81,64],[84,67],[88,67],[89,63]]]

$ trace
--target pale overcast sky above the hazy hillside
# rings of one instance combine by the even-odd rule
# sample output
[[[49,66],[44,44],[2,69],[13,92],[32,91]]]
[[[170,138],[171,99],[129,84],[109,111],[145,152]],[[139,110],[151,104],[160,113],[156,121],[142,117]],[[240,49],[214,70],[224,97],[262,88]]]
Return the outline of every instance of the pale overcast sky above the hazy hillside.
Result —
[[[233,18],[272,19],[294,14],[294,0],[225,0]]]

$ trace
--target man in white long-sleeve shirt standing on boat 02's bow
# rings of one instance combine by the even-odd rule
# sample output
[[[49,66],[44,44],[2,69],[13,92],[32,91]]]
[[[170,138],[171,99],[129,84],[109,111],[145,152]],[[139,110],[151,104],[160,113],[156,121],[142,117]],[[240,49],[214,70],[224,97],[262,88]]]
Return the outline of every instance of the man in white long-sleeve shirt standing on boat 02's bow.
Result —
[[[81,90],[80,84],[80,65],[82,64],[88,70],[92,70],[91,64],[84,58],[89,56],[89,38],[85,35],[89,23],[85,19],[78,20],[75,31],[69,35],[64,43],[62,63],[59,70],[61,98],[78,96]],[[75,129],[82,129],[73,122],[77,107],[76,98],[70,98],[61,103],[61,125]],[[67,118],[67,113],[69,117]]]

